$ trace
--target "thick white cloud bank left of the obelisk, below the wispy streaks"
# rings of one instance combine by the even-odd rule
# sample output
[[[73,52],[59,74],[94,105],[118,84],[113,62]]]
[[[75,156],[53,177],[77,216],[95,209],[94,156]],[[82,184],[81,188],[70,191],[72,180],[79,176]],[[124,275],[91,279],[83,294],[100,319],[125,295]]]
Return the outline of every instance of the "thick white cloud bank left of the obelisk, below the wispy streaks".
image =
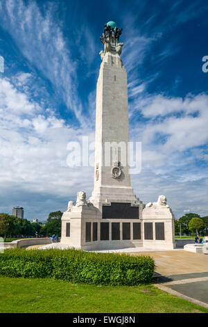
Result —
[[[0,79],[0,86],[0,193],[5,193],[8,186],[12,189],[18,181],[19,192],[73,197],[81,181],[87,184],[85,180],[94,175],[89,167],[83,178],[79,169],[66,164],[67,143],[78,141],[83,129],[69,127],[53,111],[45,111],[9,79]],[[12,101],[8,101],[10,95]]]

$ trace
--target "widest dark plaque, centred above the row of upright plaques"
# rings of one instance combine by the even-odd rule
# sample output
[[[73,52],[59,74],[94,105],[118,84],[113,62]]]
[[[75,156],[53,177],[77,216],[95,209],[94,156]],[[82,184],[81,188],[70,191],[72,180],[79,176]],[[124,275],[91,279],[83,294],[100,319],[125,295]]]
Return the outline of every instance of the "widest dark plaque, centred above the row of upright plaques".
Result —
[[[131,207],[130,203],[112,202],[111,205],[103,205],[102,218],[139,219],[139,207]]]

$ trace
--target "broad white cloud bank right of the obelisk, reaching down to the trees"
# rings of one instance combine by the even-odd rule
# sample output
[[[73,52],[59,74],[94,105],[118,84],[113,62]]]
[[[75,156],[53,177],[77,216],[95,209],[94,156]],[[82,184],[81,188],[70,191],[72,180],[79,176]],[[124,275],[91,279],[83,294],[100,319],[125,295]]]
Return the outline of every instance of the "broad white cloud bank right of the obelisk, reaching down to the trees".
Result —
[[[131,178],[135,193],[144,203],[164,194],[177,218],[184,210],[207,215],[208,95],[182,99],[144,92],[136,102],[130,140],[142,141],[142,170]],[[138,113],[145,118],[139,123]]]

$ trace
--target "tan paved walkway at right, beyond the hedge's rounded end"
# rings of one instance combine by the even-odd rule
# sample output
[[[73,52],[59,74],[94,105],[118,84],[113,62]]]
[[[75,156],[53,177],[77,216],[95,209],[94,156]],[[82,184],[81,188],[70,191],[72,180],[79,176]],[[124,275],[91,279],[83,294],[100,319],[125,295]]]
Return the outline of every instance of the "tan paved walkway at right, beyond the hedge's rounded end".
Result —
[[[131,253],[141,254],[148,254],[155,260],[155,286],[208,308],[208,254],[184,250]]]

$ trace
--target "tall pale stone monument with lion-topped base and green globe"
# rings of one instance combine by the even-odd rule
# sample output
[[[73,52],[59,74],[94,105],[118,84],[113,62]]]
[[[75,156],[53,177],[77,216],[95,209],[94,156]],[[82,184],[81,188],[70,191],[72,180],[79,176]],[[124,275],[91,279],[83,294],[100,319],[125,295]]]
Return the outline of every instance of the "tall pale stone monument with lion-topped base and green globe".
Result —
[[[130,182],[128,84],[121,61],[122,29],[105,24],[96,87],[94,191],[77,193],[62,216],[61,244],[85,250],[174,248],[174,216],[166,197],[144,205]],[[136,177],[135,177],[136,178]]]

